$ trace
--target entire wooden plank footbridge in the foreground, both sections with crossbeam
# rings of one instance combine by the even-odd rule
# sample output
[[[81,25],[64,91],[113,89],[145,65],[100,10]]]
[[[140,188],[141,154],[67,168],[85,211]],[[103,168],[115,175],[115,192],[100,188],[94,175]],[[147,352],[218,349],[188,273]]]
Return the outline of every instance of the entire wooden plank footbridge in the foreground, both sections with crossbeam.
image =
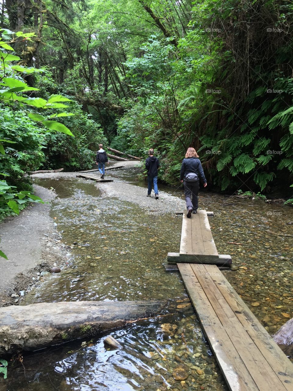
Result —
[[[216,264],[207,213],[183,214],[176,262],[204,334],[231,391],[293,391],[293,364],[241,300]],[[224,258],[226,257],[226,261]]]

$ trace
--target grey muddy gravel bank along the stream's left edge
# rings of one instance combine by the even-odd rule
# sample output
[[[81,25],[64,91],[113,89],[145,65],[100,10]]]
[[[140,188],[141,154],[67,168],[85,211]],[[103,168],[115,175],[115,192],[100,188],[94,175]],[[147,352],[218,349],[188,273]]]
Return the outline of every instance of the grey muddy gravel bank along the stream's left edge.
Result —
[[[54,192],[34,186],[44,201],[55,198]],[[8,260],[0,257],[0,307],[18,304],[21,297],[43,279],[55,264],[63,265],[68,246],[61,244],[50,204],[32,204],[19,216],[8,217],[0,225],[1,249]]]

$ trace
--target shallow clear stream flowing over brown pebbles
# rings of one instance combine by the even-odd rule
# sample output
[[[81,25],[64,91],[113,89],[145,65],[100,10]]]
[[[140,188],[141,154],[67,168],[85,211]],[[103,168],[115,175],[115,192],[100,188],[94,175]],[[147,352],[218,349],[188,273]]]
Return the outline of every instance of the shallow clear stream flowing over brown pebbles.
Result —
[[[136,181],[136,169],[113,175],[145,186]],[[62,272],[44,276],[23,304],[186,298],[179,274],[163,267],[167,253],[179,251],[180,217],[141,212],[131,200],[101,197],[99,185],[84,179],[36,183],[55,189],[51,215],[73,248]],[[180,189],[164,191],[183,198]],[[293,317],[293,209],[209,192],[200,193],[200,208],[214,211],[209,221],[218,252],[239,265],[238,271],[223,274],[274,334]],[[163,321],[150,319],[111,335],[120,350],[105,350],[98,336],[26,355],[23,365],[10,366],[0,390],[227,390],[190,305]],[[176,368],[188,377],[180,381]]]

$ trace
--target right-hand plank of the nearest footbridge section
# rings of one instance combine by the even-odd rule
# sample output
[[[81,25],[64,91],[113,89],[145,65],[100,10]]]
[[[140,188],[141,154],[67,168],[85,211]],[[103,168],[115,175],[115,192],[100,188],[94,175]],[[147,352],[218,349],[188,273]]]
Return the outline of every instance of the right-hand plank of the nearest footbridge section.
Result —
[[[238,296],[223,274],[215,273],[216,268],[213,265],[209,266],[209,272],[213,273],[213,280],[217,284],[219,291],[227,303],[229,303],[234,314],[245,327],[255,345],[262,352],[266,361],[270,364],[272,371],[275,371],[286,390],[293,391],[292,362],[273,341],[266,329]]]

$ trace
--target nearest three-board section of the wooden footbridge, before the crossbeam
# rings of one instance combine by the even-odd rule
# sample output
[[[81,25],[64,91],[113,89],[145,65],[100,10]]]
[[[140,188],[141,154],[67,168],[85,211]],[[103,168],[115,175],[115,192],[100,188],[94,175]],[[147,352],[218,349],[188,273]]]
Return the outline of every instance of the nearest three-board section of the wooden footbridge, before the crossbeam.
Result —
[[[215,265],[177,264],[232,391],[293,391],[293,364]]]

